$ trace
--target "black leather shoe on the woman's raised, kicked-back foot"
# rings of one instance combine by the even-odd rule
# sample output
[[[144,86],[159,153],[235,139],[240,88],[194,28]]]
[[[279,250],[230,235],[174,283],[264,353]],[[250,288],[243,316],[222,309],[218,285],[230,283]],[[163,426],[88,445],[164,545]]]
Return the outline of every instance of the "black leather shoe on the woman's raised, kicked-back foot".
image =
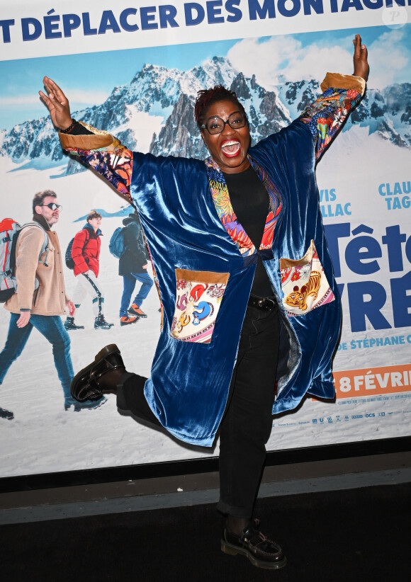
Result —
[[[123,358],[115,343],[111,343],[100,350],[96,358],[94,358],[94,362],[74,376],[70,386],[72,396],[80,402],[96,400],[101,398],[103,392],[107,392],[109,389],[116,389],[116,384],[113,383],[113,386],[110,386],[108,377],[104,379],[104,386],[102,385],[103,377],[109,372],[113,372],[113,370],[123,370],[125,372]]]

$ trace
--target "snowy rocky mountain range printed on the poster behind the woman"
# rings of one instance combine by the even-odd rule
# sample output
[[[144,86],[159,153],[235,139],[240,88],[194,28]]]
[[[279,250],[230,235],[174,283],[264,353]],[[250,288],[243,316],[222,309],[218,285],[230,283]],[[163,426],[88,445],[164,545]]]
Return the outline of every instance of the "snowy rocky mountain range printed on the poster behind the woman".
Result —
[[[244,77],[223,57],[181,72],[146,64],[129,84],[115,87],[105,103],[73,116],[94,127],[115,134],[130,149],[156,155],[207,155],[193,119],[193,105],[199,89],[223,84],[237,92],[249,115],[253,142],[288,125],[320,93],[314,80],[284,82],[276,91],[266,91],[255,77]],[[382,91],[369,90],[352,113],[347,127],[368,126],[399,147],[411,147],[411,84],[395,84]],[[25,168],[62,166],[67,174],[84,168],[62,152],[50,118],[28,120],[9,132],[0,132],[3,156]]]

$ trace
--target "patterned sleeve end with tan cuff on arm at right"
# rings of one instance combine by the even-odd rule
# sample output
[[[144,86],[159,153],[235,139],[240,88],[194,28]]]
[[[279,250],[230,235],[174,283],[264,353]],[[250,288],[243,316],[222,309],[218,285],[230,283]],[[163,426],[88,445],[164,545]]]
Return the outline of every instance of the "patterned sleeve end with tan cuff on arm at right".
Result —
[[[358,76],[337,73],[325,76],[321,84],[324,92],[300,115],[300,120],[308,125],[313,135],[316,160],[320,159],[344,120],[359,103],[365,86],[364,79]]]

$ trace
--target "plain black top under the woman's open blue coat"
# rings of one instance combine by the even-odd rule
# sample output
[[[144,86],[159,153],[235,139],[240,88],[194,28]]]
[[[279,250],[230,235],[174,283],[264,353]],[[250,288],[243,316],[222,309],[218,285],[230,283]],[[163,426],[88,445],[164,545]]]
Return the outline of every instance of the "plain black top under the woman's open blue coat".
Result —
[[[258,250],[269,213],[269,193],[251,166],[243,172],[224,173],[224,178],[230,193],[232,210]],[[251,292],[259,297],[273,295],[269,277],[260,257]]]

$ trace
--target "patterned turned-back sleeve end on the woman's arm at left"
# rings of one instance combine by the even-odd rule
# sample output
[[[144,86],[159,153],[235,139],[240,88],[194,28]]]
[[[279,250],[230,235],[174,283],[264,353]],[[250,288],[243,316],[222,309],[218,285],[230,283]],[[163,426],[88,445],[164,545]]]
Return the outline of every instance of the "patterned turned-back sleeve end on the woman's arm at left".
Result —
[[[133,173],[133,152],[108,132],[96,130],[90,125],[81,125],[93,133],[87,135],[60,133],[63,149],[101,174],[120,194],[132,202],[130,182]]]

